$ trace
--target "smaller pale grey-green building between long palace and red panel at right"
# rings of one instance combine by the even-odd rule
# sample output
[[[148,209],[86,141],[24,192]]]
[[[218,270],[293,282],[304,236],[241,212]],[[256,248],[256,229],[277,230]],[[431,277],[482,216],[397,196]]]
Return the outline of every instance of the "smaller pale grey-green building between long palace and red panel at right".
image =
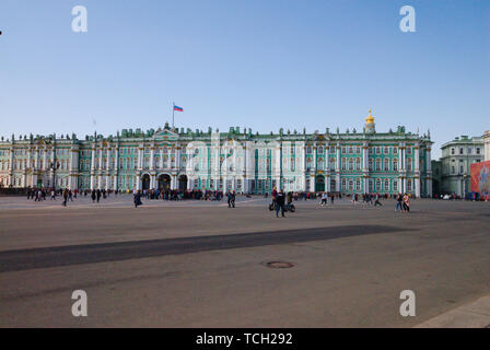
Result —
[[[441,194],[464,197],[471,191],[470,164],[485,160],[482,137],[456,137],[441,147]]]

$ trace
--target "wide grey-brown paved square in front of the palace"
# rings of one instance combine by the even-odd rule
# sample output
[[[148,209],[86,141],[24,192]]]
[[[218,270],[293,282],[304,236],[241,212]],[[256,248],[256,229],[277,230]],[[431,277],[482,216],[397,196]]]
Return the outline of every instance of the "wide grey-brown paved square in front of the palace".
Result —
[[[318,201],[2,197],[0,326],[411,327],[490,294],[489,202]]]

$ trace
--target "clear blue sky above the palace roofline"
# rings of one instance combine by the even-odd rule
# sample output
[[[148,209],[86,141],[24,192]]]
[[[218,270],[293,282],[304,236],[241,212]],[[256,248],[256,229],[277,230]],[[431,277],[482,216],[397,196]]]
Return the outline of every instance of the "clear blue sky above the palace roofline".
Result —
[[[88,9],[88,33],[71,9]],[[399,30],[416,9],[417,32]],[[490,1],[2,0],[0,135],[490,129]]]

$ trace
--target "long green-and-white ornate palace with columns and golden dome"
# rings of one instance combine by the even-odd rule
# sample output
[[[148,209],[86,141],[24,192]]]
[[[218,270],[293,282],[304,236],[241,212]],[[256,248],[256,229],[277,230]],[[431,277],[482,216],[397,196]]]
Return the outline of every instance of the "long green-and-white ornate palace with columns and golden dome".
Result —
[[[410,192],[432,195],[430,135],[405,127],[378,133],[172,128],[116,136],[31,136],[0,141],[0,186],[71,189],[219,189],[264,194]]]

